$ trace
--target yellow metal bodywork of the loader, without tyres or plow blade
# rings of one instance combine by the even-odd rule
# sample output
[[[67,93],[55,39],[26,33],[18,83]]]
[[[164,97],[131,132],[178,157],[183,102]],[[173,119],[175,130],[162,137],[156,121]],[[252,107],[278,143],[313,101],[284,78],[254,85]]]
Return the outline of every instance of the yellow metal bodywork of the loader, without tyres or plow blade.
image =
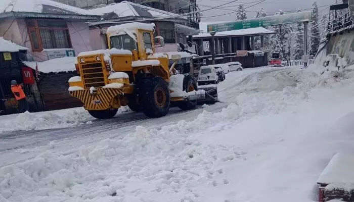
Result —
[[[116,32],[119,32],[117,30]],[[143,34],[149,33],[152,44],[152,52],[155,53],[153,31],[136,29],[137,37],[137,50],[132,51],[131,55],[119,55],[111,54],[110,57],[110,69],[114,72],[125,72],[129,75],[129,78],[108,79],[110,71],[106,68],[104,54],[85,55],[77,58],[78,71],[80,73],[81,81],[69,82],[69,86],[77,86],[78,90],[70,91],[70,94],[81,100],[83,107],[86,110],[107,110],[118,109],[120,106],[127,105],[127,94],[134,92],[134,84],[136,81],[136,74],[139,71],[151,73],[156,76],[161,76],[169,81],[169,67],[168,57],[163,58],[149,58],[146,52],[145,43],[143,40]],[[110,37],[114,33],[107,33],[108,47],[111,46]],[[100,58],[100,61],[97,60]],[[82,61],[84,62],[82,62]],[[159,60],[160,65],[152,66],[132,66],[134,61],[144,60]],[[118,83],[121,84],[119,88],[104,87],[107,84]],[[95,91],[90,90],[91,87],[95,88]],[[82,88],[82,89],[81,89]]]

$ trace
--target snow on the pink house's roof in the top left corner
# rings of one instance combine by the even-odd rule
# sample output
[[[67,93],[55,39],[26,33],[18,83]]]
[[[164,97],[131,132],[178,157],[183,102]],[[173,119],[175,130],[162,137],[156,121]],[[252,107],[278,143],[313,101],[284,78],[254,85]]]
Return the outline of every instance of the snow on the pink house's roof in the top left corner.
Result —
[[[0,13],[28,12],[43,14],[90,15],[90,11],[51,0],[1,0]]]

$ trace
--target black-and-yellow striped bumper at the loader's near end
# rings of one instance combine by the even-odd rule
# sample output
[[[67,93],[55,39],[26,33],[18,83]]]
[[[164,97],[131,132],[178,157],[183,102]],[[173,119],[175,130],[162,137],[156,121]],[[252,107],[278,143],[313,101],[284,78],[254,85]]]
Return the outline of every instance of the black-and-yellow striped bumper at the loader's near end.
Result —
[[[107,110],[114,104],[114,97],[123,94],[123,88],[97,88],[70,91],[70,95],[81,100],[85,110]]]

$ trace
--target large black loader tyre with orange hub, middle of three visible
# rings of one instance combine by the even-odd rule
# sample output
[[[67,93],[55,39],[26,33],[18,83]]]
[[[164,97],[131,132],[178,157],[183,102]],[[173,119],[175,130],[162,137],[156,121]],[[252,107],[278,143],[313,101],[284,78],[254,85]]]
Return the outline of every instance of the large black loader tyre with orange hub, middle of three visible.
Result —
[[[139,86],[139,99],[147,117],[165,116],[170,105],[168,84],[159,76],[144,78]]]

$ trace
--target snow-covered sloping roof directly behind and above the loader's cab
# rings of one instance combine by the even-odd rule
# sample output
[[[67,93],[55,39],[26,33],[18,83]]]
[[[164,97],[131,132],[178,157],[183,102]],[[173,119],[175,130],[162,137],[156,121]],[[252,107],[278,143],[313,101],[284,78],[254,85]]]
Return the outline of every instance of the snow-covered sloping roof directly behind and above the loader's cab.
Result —
[[[122,18],[128,16],[152,17],[152,18],[179,16],[174,13],[154,9],[140,4],[125,2],[125,1],[117,4],[113,3],[96,9],[91,9],[89,11],[90,13],[95,13],[99,15],[110,14],[109,15],[110,19]]]

